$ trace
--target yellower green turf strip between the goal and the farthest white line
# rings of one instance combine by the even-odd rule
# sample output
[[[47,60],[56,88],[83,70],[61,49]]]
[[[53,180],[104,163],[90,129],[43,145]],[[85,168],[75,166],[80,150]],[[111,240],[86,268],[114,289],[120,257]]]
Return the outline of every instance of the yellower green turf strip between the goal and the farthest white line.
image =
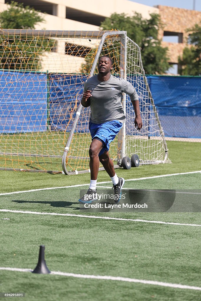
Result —
[[[172,163],[142,165],[137,168],[131,168],[130,170],[121,168],[116,169],[117,174],[125,179],[131,179],[201,170],[200,143],[180,141],[167,142],[169,158]],[[45,187],[87,184],[90,182],[89,173],[66,176],[61,174],[51,175],[46,173],[0,171],[0,178],[0,193]],[[110,181],[110,178],[105,171],[100,171],[98,174],[98,182],[102,181]],[[184,185],[183,180],[181,186],[182,185]],[[194,186],[195,188],[199,188],[200,182],[195,182]],[[167,188],[170,189],[170,187]],[[172,188],[174,188],[174,185]],[[186,186],[185,188],[190,187]]]

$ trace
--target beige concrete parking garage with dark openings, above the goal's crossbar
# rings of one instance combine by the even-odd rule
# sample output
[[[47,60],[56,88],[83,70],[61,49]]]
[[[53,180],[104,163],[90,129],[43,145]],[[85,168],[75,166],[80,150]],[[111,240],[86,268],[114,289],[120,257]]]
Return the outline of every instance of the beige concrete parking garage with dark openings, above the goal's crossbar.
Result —
[[[11,0],[0,0],[0,11],[5,10]],[[16,0],[46,13],[46,23],[38,24],[36,29],[58,30],[99,30],[105,17],[114,12],[132,15],[134,11],[148,18],[150,13],[157,13],[158,8],[142,5],[128,0]]]

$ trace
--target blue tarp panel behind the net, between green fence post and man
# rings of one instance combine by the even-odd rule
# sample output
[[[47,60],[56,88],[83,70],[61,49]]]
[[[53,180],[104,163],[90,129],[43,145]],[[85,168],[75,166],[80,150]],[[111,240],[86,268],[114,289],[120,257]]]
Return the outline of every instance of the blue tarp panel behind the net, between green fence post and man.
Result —
[[[49,74],[49,123],[51,130],[70,132],[83,95],[86,79],[87,76],[82,74]],[[85,110],[82,110],[77,125],[78,132],[82,133],[89,132]]]

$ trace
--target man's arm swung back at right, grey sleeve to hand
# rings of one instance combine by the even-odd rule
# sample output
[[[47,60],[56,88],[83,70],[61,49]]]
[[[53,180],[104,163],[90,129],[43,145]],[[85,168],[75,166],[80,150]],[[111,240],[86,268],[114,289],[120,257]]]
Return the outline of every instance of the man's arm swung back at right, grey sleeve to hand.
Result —
[[[121,91],[130,96],[130,100],[135,111],[135,127],[137,127],[137,129],[140,131],[140,129],[142,128],[142,118],[140,116],[140,105],[137,92],[135,91],[135,88],[131,85],[131,83],[127,82],[126,80],[122,80]]]

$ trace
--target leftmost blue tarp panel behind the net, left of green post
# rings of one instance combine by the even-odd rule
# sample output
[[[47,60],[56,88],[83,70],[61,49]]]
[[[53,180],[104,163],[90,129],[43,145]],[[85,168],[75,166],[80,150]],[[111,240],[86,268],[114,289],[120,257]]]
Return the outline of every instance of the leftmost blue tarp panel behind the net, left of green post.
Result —
[[[0,71],[0,133],[46,129],[46,74]]]

